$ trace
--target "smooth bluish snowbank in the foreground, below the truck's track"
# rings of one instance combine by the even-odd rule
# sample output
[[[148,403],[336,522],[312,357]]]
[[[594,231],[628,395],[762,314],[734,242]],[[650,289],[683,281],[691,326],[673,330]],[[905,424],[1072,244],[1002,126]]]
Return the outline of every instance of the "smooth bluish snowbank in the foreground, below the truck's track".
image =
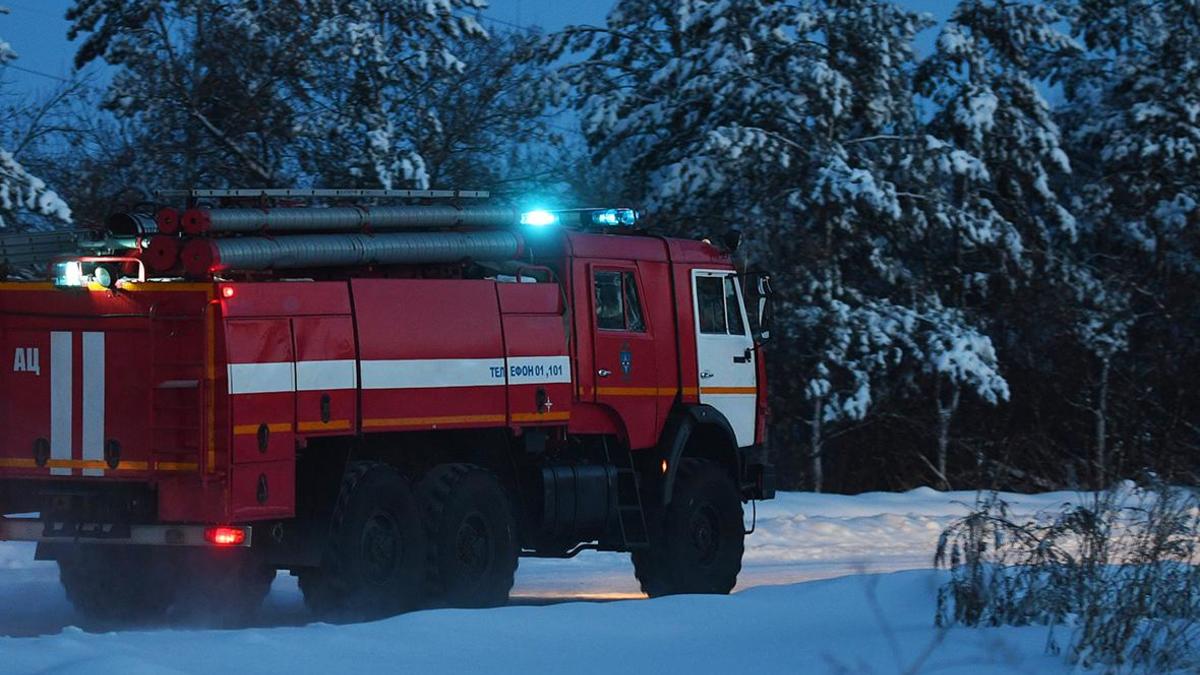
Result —
[[[437,610],[356,626],[0,640],[10,673],[1066,671],[1045,631],[931,627],[941,574],[850,577],[732,597]],[[878,613],[876,613],[876,609]],[[926,651],[932,650],[926,655]],[[928,656],[928,661],[923,661]]]

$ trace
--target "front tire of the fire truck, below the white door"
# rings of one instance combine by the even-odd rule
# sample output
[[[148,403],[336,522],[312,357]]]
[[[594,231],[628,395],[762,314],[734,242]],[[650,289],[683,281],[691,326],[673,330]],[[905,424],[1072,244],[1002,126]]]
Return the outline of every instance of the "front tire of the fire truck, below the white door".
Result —
[[[719,464],[682,460],[671,503],[650,520],[649,549],[632,554],[642,592],[653,598],[733,590],[745,539],[742,496]]]

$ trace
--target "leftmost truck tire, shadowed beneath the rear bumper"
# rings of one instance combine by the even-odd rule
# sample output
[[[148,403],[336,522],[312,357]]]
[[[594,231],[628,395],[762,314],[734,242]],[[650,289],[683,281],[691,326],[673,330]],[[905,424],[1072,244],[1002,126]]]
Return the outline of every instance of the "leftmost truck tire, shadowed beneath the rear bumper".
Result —
[[[156,620],[175,596],[175,578],[161,554],[148,546],[73,546],[59,556],[59,580],[71,604],[89,619],[116,623]]]

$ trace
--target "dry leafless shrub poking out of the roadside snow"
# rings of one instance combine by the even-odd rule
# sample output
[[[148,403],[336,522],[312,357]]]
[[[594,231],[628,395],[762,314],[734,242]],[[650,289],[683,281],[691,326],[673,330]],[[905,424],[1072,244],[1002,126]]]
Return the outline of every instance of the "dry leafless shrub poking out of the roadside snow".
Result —
[[[1198,533],[1196,494],[1153,477],[1027,520],[982,495],[938,540],[937,623],[1048,625],[1048,649],[1082,667],[1195,670]]]

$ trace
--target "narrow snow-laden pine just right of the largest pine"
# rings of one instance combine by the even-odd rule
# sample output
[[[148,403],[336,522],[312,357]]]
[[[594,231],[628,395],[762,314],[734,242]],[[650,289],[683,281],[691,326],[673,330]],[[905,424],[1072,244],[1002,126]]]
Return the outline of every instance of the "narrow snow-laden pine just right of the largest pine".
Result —
[[[1075,217],[1060,195],[1070,163],[1036,80],[1046,59],[1079,52],[1061,22],[1040,2],[964,0],[917,74],[932,108],[918,168],[935,274],[955,306],[988,305],[994,319],[1021,323],[1024,294],[1046,292],[1046,275],[1074,264]],[[936,392],[944,480],[959,386],[938,382]]]

